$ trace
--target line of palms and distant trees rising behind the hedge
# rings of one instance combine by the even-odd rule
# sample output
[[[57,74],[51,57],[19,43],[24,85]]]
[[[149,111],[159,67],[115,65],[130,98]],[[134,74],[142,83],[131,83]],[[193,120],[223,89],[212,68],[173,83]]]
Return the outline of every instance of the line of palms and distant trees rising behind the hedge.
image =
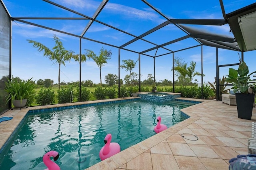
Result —
[[[74,59],[75,62],[79,61],[80,55],[75,54],[74,51],[71,50],[66,50],[63,47],[62,41],[56,36],[53,35],[53,40],[55,41],[55,46],[52,47],[52,49],[46,47],[46,45],[43,45],[40,42],[33,41],[33,40],[28,40],[29,43],[32,43],[32,47],[36,48],[39,52],[43,52],[44,57],[49,58],[54,64],[57,64],[59,66],[58,70],[58,89],[60,90],[60,85],[65,85],[65,82],[60,82],[60,66],[64,65],[67,61],[71,61],[71,59]],[[108,60],[111,59],[112,51],[104,49],[100,49],[99,55],[96,55],[94,51],[89,50],[89,49],[84,49],[85,53],[81,55],[81,62],[86,62],[87,59],[92,59],[97,65],[98,68],[100,69],[100,86],[102,86],[102,67],[105,64],[108,64]],[[128,71],[130,74],[127,74],[124,76],[124,80],[120,80],[120,84],[130,84],[132,85],[138,85],[138,74],[136,72],[132,72],[133,68],[135,68],[137,61],[134,61],[132,59],[128,60],[122,60],[122,65],[120,68],[125,69],[125,71]],[[196,68],[196,62],[191,61],[190,65],[188,63],[185,63],[182,58],[176,57],[174,60],[174,70],[175,70],[175,76],[177,78],[176,84],[177,85],[192,85],[192,80],[194,76],[198,75],[201,76],[199,72],[195,70]],[[171,69],[171,71],[173,68]],[[203,75],[204,76],[204,75]],[[114,84],[118,84],[118,76],[116,74],[107,74],[104,77],[104,80],[108,86],[113,86]],[[197,80],[195,79],[195,82]],[[75,83],[75,82],[72,82]],[[152,74],[148,74],[148,77],[146,80],[142,81],[141,84],[145,85],[151,85],[154,83],[154,77]],[[53,80],[51,79],[45,79],[45,80],[38,80],[37,82],[38,85],[45,86],[45,87],[50,87],[53,85]],[[68,83],[67,83],[68,84]],[[91,80],[86,80],[83,81],[82,84],[84,86],[94,86],[94,83]],[[172,85],[172,81],[164,79],[164,80],[159,80],[158,82],[156,81],[156,85]]]

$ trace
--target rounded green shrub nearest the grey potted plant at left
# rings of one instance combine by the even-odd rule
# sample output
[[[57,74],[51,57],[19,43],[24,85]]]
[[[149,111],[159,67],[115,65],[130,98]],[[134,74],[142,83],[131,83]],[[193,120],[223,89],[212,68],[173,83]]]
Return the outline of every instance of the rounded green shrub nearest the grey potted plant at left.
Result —
[[[50,88],[43,90],[43,88],[41,88],[40,91],[38,92],[38,95],[36,96],[36,103],[39,105],[54,104],[55,103],[54,97],[55,97],[54,90]]]

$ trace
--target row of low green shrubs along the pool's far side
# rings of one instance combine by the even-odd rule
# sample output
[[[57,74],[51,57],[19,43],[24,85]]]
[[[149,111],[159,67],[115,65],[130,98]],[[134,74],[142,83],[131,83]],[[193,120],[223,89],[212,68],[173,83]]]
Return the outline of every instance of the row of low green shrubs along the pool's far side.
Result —
[[[122,86],[120,88],[120,96],[121,97],[130,97],[132,96],[132,93],[136,93],[139,91],[138,86],[130,86],[128,88]],[[148,87],[141,87],[141,92],[148,92],[150,89]],[[172,92],[172,88],[165,88],[160,89],[158,88],[157,91],[160,92]],[[181,93],[181,97],[184,98],[200,98],[200,99],[209,99],[210,97],[214,96],[213,90],[210,88],[210,86],[203,86],[203,96],[201,94],[202,88],[196,87],[196,86],[179,86],[175,87],[175,92]],[[110,99],[110,98],[118,98],[118,87],[101,87],[98,86],[94,92],[90,92],[90,90],[87,90],[87,88],[82,87],[81,88],[81,98],[79,96],[79,88],[74,89],[73,86],[68,86],[68,88],[61,88],[61,90],[57,91],[57,99],[58,103],[70,103],[73,102],[74,99],[77,101],[88,101],[90,100],[90,94],[97,99]],[[50,105],[55,103],[55,94],[54,90],[43,89],[41,88],[38,94],[35,96],[36,103],[39,105]],[[30,106],[33,102],[34,98],[30,99]]]

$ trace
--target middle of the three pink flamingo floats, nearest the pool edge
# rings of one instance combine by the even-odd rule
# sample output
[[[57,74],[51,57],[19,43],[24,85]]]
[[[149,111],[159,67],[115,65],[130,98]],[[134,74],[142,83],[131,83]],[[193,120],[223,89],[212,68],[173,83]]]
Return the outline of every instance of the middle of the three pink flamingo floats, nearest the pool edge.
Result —
[[[112,135],[109,133],[104,139],[104,147],[100,149],[100,159],[104,160],[114,154],[120,152],[120,145],[118,143],[111,143]]]

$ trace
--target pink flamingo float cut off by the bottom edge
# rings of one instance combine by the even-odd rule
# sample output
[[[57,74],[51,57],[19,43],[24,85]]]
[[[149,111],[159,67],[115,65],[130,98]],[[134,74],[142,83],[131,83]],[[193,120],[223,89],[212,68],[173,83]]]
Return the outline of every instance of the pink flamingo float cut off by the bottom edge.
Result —
[[[53,160],[56,161],[59,158],[59,153],[52,150],[44,154],[43,161],[44,164],[47,166],[45,170],[60,170],[60,166],[58,166],[55,162],[50,160],[50,157],[53,156]]]

